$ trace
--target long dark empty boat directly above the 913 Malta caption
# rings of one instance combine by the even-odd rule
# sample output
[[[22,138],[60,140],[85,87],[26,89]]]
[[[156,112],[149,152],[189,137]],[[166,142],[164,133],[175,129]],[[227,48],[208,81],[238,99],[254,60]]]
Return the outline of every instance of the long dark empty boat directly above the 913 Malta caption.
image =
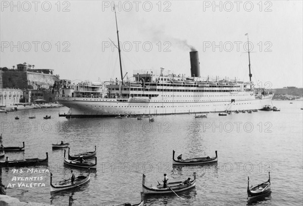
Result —
[[[13,161],[0,161],[1,167],[23,167],[23,166],[35,166],[41,164],[48,164],[48,153],[46,153],[45,159],[25,159],[25,160],[13,160]]]

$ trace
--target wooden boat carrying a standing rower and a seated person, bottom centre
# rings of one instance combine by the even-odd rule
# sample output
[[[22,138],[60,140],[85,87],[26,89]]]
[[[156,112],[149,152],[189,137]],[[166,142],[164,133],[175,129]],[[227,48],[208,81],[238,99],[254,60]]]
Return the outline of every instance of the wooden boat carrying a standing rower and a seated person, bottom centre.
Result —
[[[150,187],[146,186],[145,185],[145,175],[143,174],[143,180],[142,180],[143,193],[144,194],[167,194],[167,193],[185,191],[185,190],[195,187],[195,183],[196,183],[196,173],[195,172],[193,173],[193,177],[194,177],[194,179],[192,181],[189,181],[189,183],[187,183],[187,184],[184,184],[184,181],[169,182],[169,183],[167,183],[168,187],[163,188],[163,185],[150,186]]]

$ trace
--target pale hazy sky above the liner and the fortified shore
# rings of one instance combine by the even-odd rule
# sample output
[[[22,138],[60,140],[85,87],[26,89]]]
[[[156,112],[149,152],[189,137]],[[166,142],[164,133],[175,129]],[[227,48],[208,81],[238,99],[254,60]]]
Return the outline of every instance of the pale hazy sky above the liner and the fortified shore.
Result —
[[[27,62],[61,79],[121,79],[135,71],[303,87],[302,1],[0,1],[0,67]],[[245,34],[248,35],[245,35]],[[127,73],[127,74],[126,74]],[[145,73],[145,72],[144,72]]]

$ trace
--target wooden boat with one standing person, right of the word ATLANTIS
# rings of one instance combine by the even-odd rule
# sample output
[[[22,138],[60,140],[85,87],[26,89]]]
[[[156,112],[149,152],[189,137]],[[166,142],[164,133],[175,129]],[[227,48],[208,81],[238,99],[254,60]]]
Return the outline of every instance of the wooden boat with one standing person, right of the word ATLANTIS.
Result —
[[[87,176],[81,175],[81,176],[76,177],[74,183],[71,182],[71,178],[70,178],[67,180],[60,181],[60,182],[58,182],[58,184],[54,185],[52,182],[53,174],[51,172],[51,193],[79,187],[80,185],[83,185],[86,182],[88,182],[89,179],[90,179],[90,176],[89,176],[89,169],[88,169],[88,175]]]

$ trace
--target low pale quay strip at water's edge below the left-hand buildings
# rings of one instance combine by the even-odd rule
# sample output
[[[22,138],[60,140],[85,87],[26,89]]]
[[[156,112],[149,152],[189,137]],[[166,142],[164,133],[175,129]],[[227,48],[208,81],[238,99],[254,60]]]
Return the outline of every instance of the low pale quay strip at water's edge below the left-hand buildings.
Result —
[[[19,110],[28,110],[28,109],[42,109],[42,108],[59,108],[63,107],[62,104],[57,103],[47,103],[47,104],[31,104],[31,105],[10,105],[6,107],[0,107],[0,112],[13,112]]]

